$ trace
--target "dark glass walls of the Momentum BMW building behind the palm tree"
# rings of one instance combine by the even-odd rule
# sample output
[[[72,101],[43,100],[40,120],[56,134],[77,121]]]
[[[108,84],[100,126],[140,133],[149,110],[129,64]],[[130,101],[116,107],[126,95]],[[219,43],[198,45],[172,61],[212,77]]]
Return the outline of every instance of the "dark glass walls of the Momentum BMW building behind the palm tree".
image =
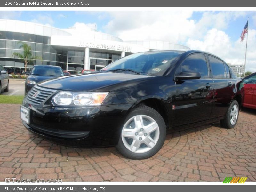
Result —
[[[56,65],[71,74],[84,69],[84,48],[69,48],[50,45],[51,38],[47,36],[27,33],[0,31],[0,64],[9,72],[22,73],[24,62],[13,56],[14,52],[23,54],[22,42],[31,47],[32,56],[38,56],[28,64],[27,70],[33,65]],[[114,60],[121,58],[121,54],[110,52],[91,51],[89,53],[90,69],[103,68]]]

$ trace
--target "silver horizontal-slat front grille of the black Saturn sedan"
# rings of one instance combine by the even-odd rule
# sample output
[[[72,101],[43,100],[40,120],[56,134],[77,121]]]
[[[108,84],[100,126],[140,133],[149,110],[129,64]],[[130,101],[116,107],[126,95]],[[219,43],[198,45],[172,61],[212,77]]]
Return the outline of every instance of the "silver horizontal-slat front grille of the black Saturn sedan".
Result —
[[[46,89],[35,85],[29,92],[27,96],[28,103],[32,105],[40,105],[44,100],[52,95],[56,90]]]

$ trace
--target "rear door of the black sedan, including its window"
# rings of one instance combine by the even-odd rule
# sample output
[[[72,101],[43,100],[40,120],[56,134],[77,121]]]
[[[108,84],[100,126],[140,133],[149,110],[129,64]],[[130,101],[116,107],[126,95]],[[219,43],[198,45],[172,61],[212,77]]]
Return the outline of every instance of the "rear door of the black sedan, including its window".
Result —
[[[235,96],[235,83],[226,63],[208,55],[214,84],[213,106],[210,118],[225,116],[232,98]]]

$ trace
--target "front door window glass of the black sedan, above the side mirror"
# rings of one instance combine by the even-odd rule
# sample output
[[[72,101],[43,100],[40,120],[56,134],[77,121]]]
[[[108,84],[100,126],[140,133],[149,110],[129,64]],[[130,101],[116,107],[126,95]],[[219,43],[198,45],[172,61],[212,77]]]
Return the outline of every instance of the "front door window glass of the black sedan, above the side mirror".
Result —
[[[204,54],[189,55],[178,67],[176,73],[181,73],[184,71],[199,72],[201,79],[208,78],[208,67]]]

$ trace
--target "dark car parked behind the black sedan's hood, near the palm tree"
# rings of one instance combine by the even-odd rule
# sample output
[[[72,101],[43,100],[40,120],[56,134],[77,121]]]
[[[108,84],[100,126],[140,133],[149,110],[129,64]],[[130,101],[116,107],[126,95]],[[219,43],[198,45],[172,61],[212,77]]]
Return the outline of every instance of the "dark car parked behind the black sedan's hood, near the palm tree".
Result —
[[[25,95],[27,95],[28,91],[38,82],[58,76],[64,76],[64,72],[59,66],[34,65],[25,82]]]

